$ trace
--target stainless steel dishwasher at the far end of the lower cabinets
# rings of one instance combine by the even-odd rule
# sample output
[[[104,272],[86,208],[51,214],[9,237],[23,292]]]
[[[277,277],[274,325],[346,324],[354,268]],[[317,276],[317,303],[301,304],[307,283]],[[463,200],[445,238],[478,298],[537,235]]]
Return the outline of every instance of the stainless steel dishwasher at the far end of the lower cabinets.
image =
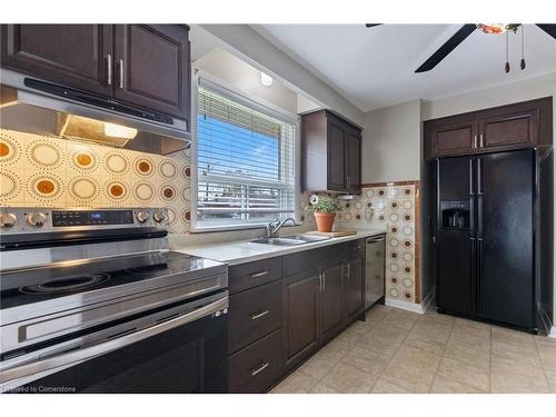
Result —
[[[385,292],[385,235],[367,239],[365,266],[365,309],[373,306]]]

